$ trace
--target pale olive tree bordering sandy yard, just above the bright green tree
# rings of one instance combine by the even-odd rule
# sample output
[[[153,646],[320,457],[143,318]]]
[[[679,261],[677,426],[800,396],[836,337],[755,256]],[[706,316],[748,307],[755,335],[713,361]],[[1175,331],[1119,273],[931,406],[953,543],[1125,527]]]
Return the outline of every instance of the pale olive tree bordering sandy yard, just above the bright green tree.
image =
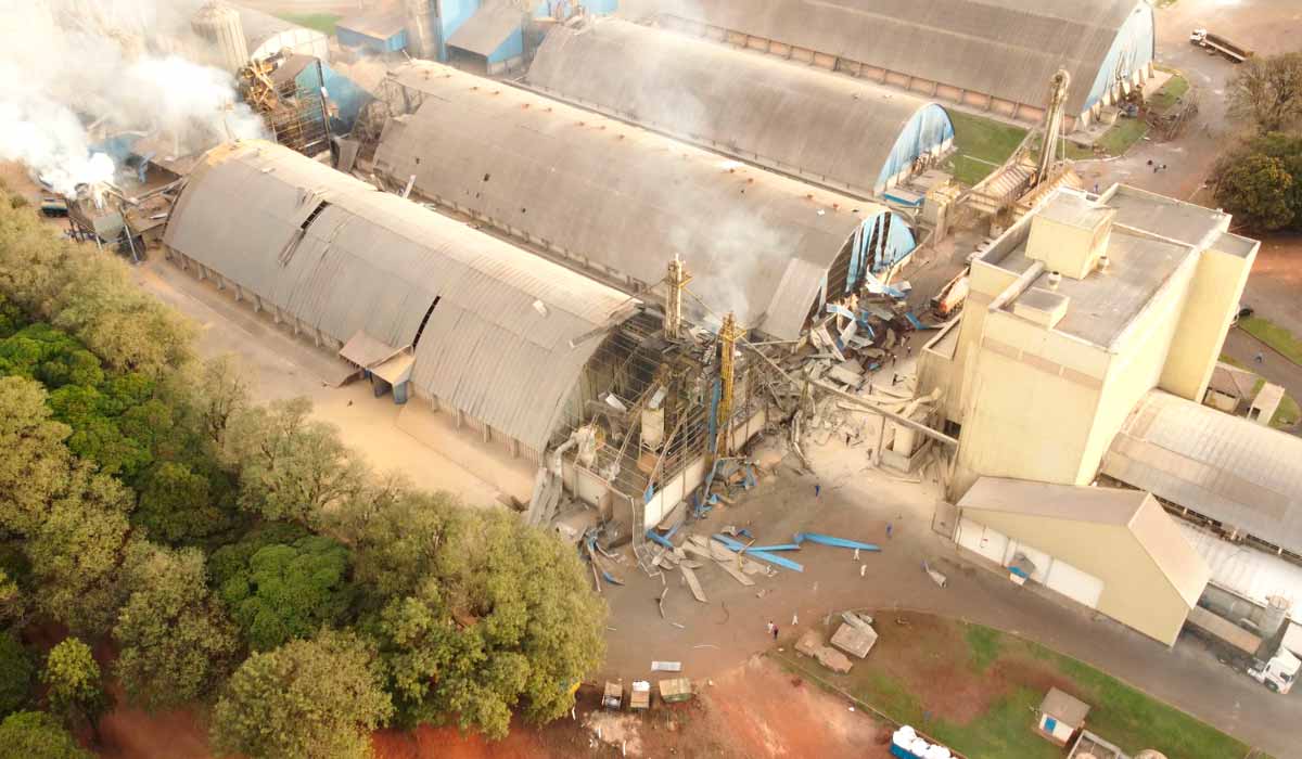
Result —
[[[362,488],[366,466],[333,426],[310,421],[310,411],[311,401],[293,398],[245,409],[230,421],[225,450],[240,470],[242,508],[314,525]]]

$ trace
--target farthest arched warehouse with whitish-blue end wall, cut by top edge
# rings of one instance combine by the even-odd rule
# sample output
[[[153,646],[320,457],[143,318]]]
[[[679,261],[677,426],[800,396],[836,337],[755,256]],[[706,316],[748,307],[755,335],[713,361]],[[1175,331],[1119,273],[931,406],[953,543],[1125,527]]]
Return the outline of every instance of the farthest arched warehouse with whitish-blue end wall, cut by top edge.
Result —
[[[1060,68],[1069,126],[1152,76],[1147,0],[629,0],[620,14],[1031,122]]]

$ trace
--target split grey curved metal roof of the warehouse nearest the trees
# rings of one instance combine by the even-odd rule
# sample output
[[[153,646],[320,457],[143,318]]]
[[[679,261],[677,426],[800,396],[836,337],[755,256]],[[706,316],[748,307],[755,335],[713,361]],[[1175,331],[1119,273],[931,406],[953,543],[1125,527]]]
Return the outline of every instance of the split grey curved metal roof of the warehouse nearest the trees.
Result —
[[[538,450],[602,328],[629,307],[617,290],[260,141],[204,158],[164,242],[336,340],[365,331],[410,345],[428,312],[415,389]]]

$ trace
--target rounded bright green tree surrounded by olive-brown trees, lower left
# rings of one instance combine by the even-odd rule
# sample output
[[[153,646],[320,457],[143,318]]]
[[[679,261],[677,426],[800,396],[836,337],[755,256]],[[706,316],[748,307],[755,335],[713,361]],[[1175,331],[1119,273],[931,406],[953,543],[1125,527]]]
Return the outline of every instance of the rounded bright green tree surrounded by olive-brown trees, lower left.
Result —
[[[260,548],[221,583],[221,600],[255,651],[270,651],[345,621],[354,591],[348,548],[312,535]]]

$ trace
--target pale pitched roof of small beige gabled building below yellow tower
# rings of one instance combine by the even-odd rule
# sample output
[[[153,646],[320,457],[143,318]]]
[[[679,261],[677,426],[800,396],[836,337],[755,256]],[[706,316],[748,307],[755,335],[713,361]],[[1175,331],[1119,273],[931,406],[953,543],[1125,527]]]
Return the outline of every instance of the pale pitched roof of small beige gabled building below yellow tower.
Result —
[[[1198,604],[1211,578],[1174,517],[1143,491],[983,476],[967,490],[958,508],[1125,527],[1190,607]],[[980,521],[979,516],[974,518]]]

